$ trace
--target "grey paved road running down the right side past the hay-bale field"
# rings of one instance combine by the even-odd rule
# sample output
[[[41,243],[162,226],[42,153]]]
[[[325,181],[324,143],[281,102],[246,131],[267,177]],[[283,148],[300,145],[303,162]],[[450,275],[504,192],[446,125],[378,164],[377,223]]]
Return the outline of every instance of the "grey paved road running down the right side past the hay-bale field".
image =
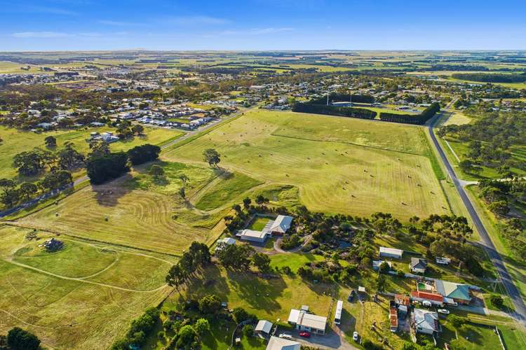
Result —
[[[480,243],[483,245],[488,255],[490,255],[490,259],[492,260],[493,265],[497,268],[497,273],[500,276],[502,284],[504,285],[504,288],[506,288],[506,292],[508,293],[508,295],[511,297],[513,305],[515,306],[515,311],[512,312],[511,314],[522,325],[526,325],[526,305],[524,303],[524,300],[522,300],[522,297],[520,296],[520,292],[518,288],[515,286],[515,283],[513,283],[513,279],[511,279],[511,276],[508,273],[508,270],[506,269],[504,262],[502,261],[501,255],[495,248],[490,238],[490,235],[488,235],[487,230],[485,229],[482,221],[480,220],[480,216],[478,216],[476,209],[473,207],[471,200],[469,200],[469,197],[466,194],[466,191],[462,187],[462,181],[457,178],[457,175],[454,173],[453,167],[451,166],[449,160],[447,160],[447,157],[445,156],[445,153],[442,147],[440,146],[440,144],[438,143],[438,140],[436,139],[433,128],[435,127],[438,119],[440,119],[441,115],[442,113],[438,114],[436,117],[434,117],[431,123],[429,123],[429,134],[431,135],[433,144],[436,150],[438,151],[438,153],[440,154],[440,158],[442,159],[447,169],[447,172],[450,174],[450,177],[454,183],[454,187],[457,188],[457,191],[462,199],[462,202],[464,202],[466,209],[468,209],[468,213],[471,216],[473,223],[475,223],[476,225],[476,228],[480,234],[480,239],[481,239]]]

